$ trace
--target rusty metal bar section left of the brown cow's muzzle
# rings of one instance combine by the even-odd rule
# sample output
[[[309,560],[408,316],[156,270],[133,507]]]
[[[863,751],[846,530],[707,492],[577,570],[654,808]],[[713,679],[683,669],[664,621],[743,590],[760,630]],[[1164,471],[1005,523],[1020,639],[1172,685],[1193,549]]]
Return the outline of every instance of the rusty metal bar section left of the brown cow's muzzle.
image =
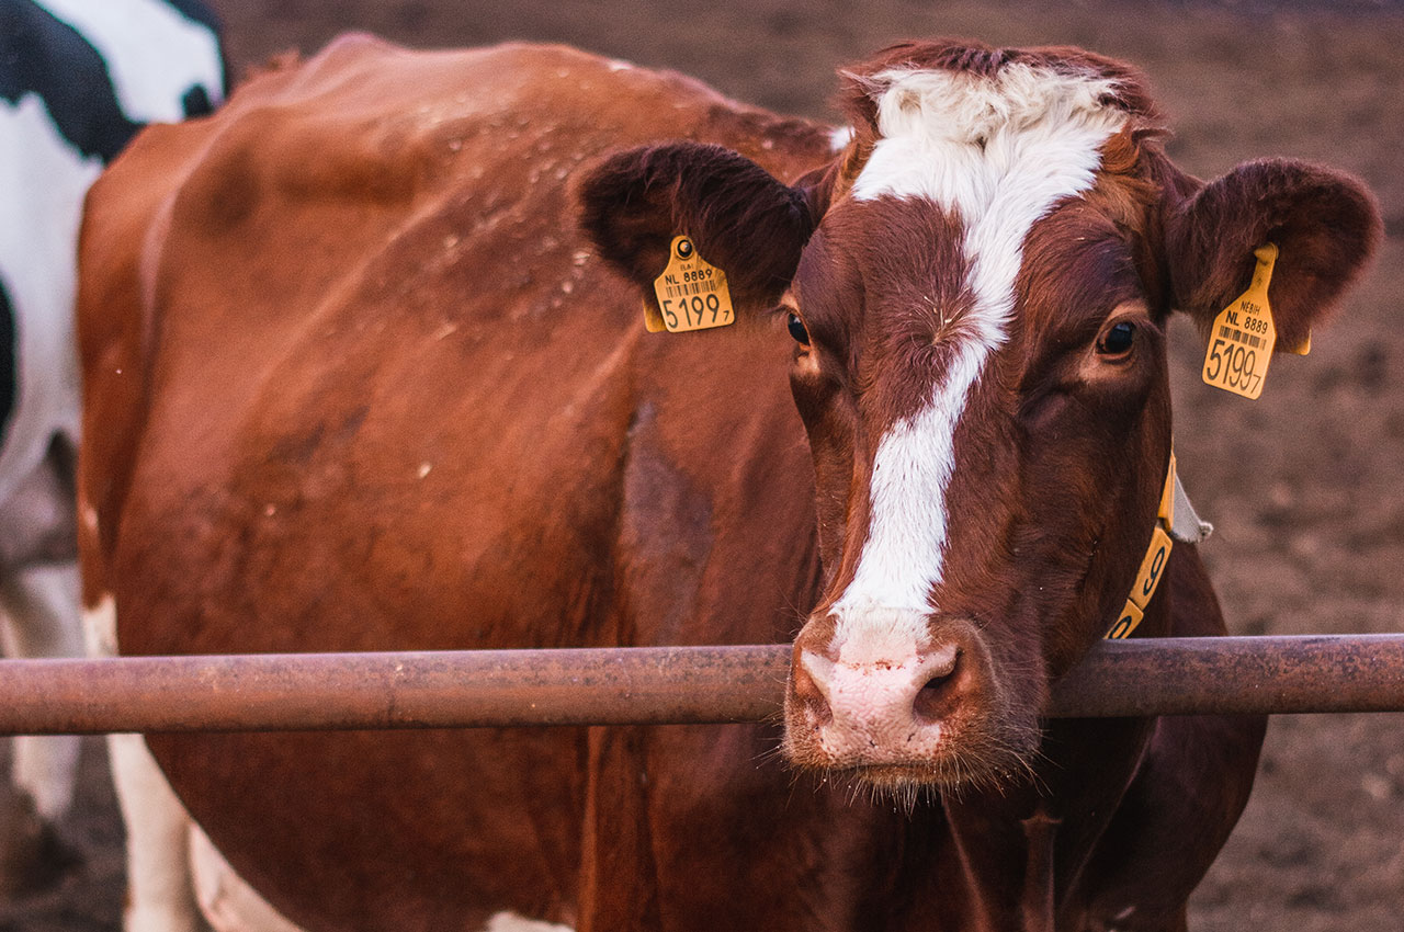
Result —
[[[783,646],[4,661],[0,733],[754,721],[788,665]]]

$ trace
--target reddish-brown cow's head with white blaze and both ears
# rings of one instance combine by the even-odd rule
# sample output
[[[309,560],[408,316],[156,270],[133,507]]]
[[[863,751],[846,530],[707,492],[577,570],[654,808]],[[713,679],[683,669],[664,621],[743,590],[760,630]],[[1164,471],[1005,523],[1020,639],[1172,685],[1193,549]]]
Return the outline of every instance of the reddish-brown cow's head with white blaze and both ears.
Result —
[[[854,136],[827,167],[785,184],[716,146],[623,152],[584,180],[583,225],[646,295],[688,233],[739,314],[788,319],[826,570],[790,761],[997,780],[1146,552],[1170,313],[1209,328],[1272,241],[1278,345],[1297,347],[1379,219],[1303,163],[1179,173],[1143,79],[1085,52],[910,44],[844,79]],[[1143,630],[1165,633],[1164,602]]]

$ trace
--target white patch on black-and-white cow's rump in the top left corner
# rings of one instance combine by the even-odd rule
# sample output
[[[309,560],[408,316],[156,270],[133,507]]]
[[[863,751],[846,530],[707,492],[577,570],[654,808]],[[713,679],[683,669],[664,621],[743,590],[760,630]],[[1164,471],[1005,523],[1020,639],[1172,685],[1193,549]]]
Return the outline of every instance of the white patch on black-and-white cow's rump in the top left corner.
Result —
[[[107,63],[122,112],[142,124],[185,118],[181,98],[202,84],[212,104],[225,95],[215,35],[152,0],[39,0],[93,44]]]

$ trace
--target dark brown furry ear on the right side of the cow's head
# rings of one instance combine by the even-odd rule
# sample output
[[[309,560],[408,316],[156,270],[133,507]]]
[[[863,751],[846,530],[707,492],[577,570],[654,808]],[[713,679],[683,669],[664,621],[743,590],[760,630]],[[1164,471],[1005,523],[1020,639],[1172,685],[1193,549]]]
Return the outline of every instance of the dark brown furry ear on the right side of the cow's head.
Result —
[[[1165,219],[1175,306],[1207,330],[1252,279],[1252,251],[1278,244],[1269,298],[1278,348],[1302,347],[1380,239],[1375,198],[1355,178],[1302,161],[1247,161]]]

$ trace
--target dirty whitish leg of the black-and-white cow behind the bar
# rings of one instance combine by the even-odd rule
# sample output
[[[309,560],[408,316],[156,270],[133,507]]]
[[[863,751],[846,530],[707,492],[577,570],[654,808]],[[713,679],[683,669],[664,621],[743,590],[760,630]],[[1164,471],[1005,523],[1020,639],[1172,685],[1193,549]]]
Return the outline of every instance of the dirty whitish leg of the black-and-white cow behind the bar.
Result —
[[[0,504],[0,647],[6,657],[81,657],[72,456],[65,441]],[[52,883],[77,863],[55,825],[73,803],[74,735],[18,737],[11,745],[0,888]]]

